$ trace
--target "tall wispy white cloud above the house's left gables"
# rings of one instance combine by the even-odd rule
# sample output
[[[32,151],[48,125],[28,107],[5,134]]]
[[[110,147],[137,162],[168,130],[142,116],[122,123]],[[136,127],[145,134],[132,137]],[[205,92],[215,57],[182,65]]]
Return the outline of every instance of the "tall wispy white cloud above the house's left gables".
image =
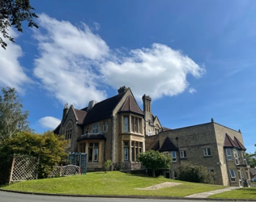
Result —
[[[45,33],[34,33],[40,52],[34,74],[42,86],[61,103],[75,107],[85,107],[92,99],[105,99],[105,90],[99,90],[102,78],[94,68],[109,54],[105,41],[84,23],[79,28],[45,14],[40,15],[39,26]]]

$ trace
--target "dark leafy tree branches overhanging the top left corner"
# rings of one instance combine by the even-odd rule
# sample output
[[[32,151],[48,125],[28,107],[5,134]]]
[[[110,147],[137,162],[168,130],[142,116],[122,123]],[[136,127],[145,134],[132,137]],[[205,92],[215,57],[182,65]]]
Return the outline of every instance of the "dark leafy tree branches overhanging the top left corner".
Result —
[[[21,27],[23,21],[28,21],[28,27],[38,28],[33,21],[33,18],[38,18],[38,16],[31,10],[35,9],[30,5],[29,0],[0,0],[0,32],[2,36],[15,42],[14,38],[9,36],[8,28],[13,26],[19,32],[23,32]],[[0,44],[4,49],[7,46],[1,37]]]

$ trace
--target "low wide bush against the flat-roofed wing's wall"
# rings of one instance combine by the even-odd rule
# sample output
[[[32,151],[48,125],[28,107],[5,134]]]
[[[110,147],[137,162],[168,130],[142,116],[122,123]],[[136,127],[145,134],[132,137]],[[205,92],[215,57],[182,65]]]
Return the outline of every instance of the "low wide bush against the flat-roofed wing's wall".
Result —
[[[177,168],[177,179],[192,183],[214,183],[213,173],[206,166],[194,162],[181,162]]]

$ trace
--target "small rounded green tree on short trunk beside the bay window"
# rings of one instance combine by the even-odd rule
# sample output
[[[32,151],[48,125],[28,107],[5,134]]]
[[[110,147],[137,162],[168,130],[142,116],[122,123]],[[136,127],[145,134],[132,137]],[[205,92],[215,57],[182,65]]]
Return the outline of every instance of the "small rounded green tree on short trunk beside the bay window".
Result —
[[[144,153],[138,154],[139,162],[142,162],[144,166],[150,168],[155,177],[155,171],[160,168],[171,167],[172,158],[170,155],[160,153],[159,151],[149,150]]]

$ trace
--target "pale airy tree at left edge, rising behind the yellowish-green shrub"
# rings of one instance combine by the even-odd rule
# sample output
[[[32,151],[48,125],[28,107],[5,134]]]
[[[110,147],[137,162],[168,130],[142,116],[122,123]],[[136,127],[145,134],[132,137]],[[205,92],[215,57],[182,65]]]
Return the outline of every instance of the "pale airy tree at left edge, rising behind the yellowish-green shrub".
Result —
[[[15,88],[2,88],[0,95],[0,140],[12,137],[22,130],[30,131],[28,126],[28,111],[23,111],[23,105]]]

